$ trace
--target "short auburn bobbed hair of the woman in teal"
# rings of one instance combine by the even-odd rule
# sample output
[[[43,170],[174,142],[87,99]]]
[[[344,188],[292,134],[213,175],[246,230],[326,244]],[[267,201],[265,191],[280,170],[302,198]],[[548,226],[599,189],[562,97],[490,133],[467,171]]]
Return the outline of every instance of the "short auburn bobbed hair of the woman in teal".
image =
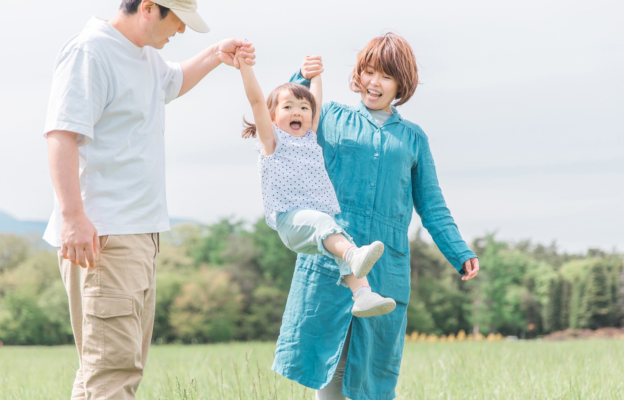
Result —
[[[375,37],[360,50],[355,67],[349,75],[349,88],[353,92],[361,92],[360,75],[369,66],[396,80],[396,102],[392,105],[404,104],[414,95],[418,85],[418,67],[412,46],[403,37],[388,32]]]

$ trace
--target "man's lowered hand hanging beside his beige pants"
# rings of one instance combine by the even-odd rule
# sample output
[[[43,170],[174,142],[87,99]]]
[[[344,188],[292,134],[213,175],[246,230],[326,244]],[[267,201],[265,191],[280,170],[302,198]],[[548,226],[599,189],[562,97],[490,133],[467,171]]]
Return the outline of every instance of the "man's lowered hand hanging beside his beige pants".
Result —
[[[95,267],[95,254],[100,252],[97,230],[82,213],[63,217],[61,226],[61,256],[82,268]]]

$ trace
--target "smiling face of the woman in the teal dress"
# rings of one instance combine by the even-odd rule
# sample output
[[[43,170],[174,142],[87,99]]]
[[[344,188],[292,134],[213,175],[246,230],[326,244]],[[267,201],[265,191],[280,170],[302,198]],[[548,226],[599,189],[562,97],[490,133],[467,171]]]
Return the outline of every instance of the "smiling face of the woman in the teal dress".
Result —
[[[396,97],[397,83],[393,77],[373,67],[366,67],[359,75],[362,82],[362,102],[371,110],[390,112],[390,103]]]

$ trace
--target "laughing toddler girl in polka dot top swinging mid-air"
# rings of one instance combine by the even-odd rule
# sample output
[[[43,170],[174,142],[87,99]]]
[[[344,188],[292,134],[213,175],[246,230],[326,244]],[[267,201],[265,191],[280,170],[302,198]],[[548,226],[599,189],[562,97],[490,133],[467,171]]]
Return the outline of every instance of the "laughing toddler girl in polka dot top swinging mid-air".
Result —
[[[331,217],[340,212],[340,207],[314,133],[319,119],[321,75],[312,79],[310,89],[285,83],[275,88],[265,102],[251,65],[240,55],[235,60],[255,120],[251,124],[243,119],[242,136],[258,136],[255,148],[260,153],[258,170],[266,224],[278,231],[289,249],[326,255],[338,264],[338,284],[353,291],[354,316],[391,312],[396,306],[394,300],[372,292],[366,279],[383,254],[383,243],[356,247],[351,236]]]

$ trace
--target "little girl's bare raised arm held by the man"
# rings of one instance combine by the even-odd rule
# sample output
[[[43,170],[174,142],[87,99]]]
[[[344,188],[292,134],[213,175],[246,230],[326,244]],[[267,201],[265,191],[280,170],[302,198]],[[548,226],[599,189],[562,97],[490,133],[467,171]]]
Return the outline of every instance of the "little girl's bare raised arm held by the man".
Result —
[[[265,155],[271,155],[275,151],[275,136],[273,136],[273,121],[269,109],[266,107],[266,100],[253,74],[253,67],[245,62],[240,56],[240,49],[236,49],[235,64],[240,65],[240,75],[243,77],[243,85],[245,86],[245,94],[251,104],[253,112],[253,120],[256,123],[256,132],[260,143],[265,150]]]

